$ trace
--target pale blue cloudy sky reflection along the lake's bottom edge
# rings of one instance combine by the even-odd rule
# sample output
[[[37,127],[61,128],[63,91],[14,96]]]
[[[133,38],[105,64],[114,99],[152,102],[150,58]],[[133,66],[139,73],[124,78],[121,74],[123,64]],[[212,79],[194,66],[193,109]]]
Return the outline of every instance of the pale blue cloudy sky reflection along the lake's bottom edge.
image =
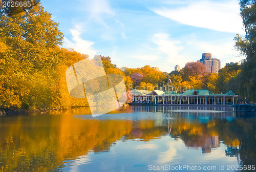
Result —
[[[148,165],[197,165],[217,166],[236,165],[237,158],[227,158],[226,146],[212,149],[210,154],[202,154],[202,149],[187,148],[184,143],[170,136],[143,142],[129,140],[117,141],[109,152],[89,153],[86,157],[74,160],[63,171],[148,171]],[[183,170],[187,171],[187,170]]]

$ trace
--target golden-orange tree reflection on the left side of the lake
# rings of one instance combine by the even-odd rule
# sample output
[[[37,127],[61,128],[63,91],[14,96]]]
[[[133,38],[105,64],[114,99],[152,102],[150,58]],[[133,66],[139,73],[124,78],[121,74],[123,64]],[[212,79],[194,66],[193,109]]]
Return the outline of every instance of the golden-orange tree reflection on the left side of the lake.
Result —
[[[74,113],[74,112],[73,112]],[[154,120],[81,120],[72,114],[0,120],[0,171],[49,171],[89,152],[107,152],[117,140],[149,141],[165,134]]]

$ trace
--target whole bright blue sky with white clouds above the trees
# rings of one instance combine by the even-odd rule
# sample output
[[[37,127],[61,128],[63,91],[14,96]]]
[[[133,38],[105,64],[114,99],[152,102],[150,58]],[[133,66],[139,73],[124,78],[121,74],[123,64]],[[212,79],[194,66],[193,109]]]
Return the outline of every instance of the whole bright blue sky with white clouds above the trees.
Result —
[[[202,53],[226,62],[242,58],[234,36],[244,35],[239,2],[42,0],[64,34],[64,48],[110,56],[117,67],[145,65],[171,72]]]

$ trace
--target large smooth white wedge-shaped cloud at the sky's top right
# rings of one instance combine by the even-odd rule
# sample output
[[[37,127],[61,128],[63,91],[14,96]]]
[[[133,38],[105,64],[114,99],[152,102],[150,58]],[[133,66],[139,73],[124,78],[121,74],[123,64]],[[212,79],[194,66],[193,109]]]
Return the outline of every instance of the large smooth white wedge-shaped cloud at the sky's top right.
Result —
[[[200,1],[178,8],[156,8],[155,13],[179,23],[222,32],[244,33],[237,1]]]

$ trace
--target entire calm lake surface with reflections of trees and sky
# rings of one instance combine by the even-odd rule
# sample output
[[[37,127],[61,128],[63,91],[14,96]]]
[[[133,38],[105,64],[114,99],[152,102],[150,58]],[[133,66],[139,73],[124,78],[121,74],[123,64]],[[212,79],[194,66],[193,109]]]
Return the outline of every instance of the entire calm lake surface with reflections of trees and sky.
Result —
[[[256,171],[256,120],[232,107],[89,113],[0,117],[0,171]]]

